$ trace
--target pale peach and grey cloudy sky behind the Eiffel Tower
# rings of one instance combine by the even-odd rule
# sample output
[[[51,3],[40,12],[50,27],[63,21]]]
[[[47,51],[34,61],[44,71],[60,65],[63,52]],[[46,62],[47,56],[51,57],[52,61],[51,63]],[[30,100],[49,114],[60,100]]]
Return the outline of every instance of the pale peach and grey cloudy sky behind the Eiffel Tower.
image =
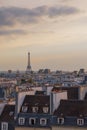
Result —
[[[87,70],[87,0],[0,0],[0,71]]]

